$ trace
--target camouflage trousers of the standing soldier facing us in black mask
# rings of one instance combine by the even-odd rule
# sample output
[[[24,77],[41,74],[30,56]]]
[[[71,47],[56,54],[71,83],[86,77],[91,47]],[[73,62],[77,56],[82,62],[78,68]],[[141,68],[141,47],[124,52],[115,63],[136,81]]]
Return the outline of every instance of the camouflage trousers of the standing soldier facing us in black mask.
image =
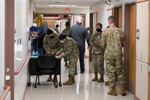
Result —
[[[94,73],[104,75],[104,56],[103,55],[92,55],[93,57],[93,70]]]

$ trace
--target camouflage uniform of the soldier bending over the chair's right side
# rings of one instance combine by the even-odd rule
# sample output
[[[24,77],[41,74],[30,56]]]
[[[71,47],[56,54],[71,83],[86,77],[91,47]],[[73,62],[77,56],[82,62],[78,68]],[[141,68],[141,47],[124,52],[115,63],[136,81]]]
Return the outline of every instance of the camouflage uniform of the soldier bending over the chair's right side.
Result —
[[[67,37],[60,52],[64,52],[64,56],[68,58],[67,65],[69,75],[74,76],[79,56],[79,50],[74,40]]]

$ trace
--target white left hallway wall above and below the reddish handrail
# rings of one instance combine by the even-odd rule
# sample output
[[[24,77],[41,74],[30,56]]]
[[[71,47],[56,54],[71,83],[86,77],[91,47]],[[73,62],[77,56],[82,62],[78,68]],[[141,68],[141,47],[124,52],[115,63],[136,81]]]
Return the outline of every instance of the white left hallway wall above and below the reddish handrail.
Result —
[[[24,63],[24,59],[28,53],[28,30],[32,24],[33,9],[34,7],[31,0],[15,0],[15,36],[21,39],[21,43],[16,43],[15,45],[17,45],[16,47],[22,47],[22,49],[15,49],[17,56],[21,54],[21,60],[15,60],[15,71]],[[24,65],[22,71],[18,75],[15,75],[15,100],[22,100],[25,93],[27,84],[27,63],[28,62]]]

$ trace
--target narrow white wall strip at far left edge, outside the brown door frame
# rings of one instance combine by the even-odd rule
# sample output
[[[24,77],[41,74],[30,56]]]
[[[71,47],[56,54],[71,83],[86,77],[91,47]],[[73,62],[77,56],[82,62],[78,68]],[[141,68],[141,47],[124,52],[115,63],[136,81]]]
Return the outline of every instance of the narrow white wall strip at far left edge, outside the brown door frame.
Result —
[[[4,69],[5,69],[5,64],[4,64],[4,54],[5,54],[5,46],[4,46],[4,42],[5,42],[5,0],[0,0],[0,95],[3,92],[3,88],[4,88]]]

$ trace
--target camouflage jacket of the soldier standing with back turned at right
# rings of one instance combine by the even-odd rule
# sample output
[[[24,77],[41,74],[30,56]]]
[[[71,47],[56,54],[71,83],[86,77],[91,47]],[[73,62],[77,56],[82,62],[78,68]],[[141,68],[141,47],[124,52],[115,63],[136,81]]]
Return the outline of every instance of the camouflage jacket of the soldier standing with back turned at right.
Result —
[[[110,26],[103,32],[101,46],[105,48],[105,59],[114,59],[116,57],[122,57],[123,45],[124,34],[119,28],[115,26]]]

